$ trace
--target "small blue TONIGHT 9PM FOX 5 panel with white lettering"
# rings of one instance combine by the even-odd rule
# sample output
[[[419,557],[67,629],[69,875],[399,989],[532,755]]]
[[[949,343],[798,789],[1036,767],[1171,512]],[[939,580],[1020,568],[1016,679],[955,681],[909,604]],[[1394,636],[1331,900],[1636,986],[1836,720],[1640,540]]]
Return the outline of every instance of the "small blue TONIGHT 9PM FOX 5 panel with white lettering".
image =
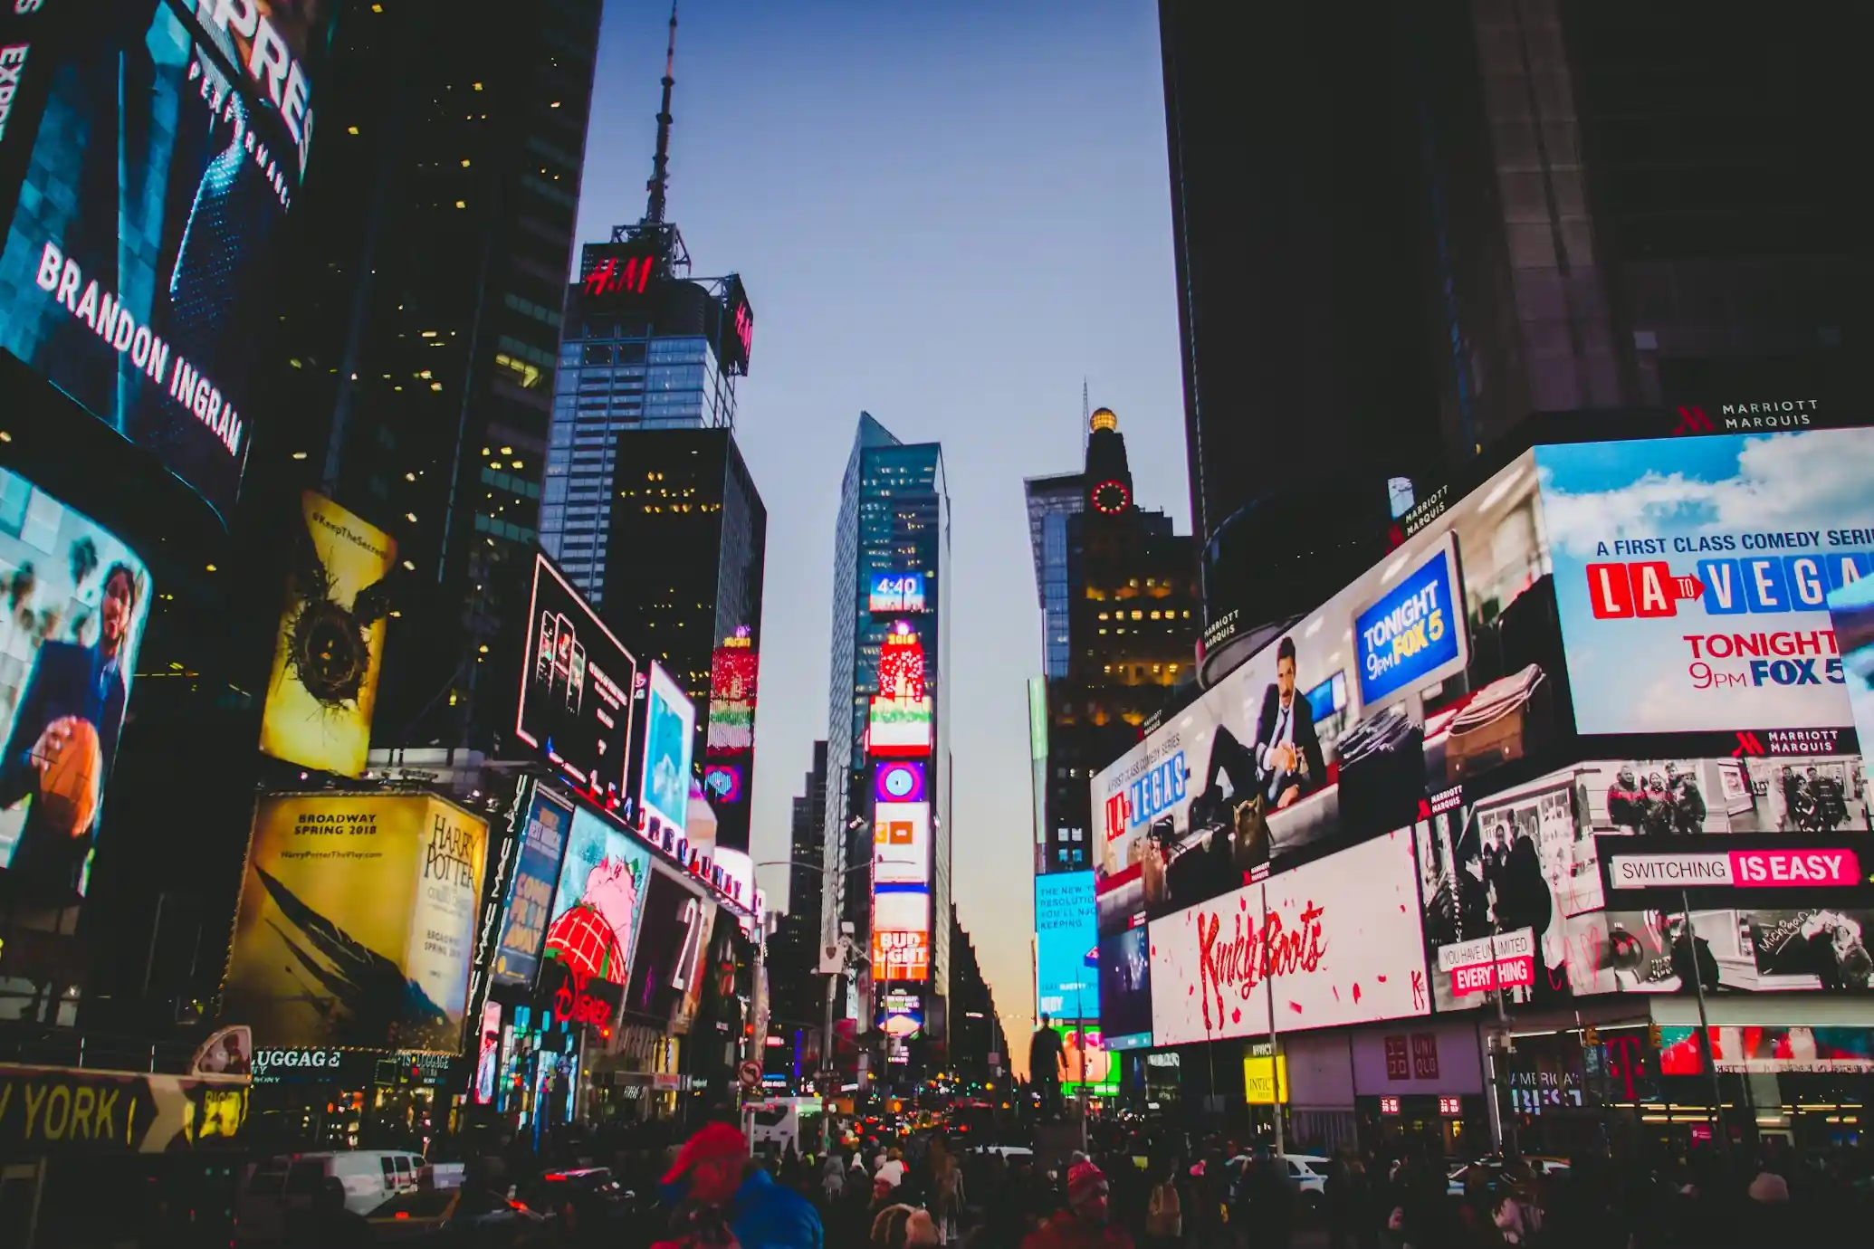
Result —
[[[1353,622],[1361,702],[1383,702],[1458,672],[1465,663],[1464,605],[1450,536]]]

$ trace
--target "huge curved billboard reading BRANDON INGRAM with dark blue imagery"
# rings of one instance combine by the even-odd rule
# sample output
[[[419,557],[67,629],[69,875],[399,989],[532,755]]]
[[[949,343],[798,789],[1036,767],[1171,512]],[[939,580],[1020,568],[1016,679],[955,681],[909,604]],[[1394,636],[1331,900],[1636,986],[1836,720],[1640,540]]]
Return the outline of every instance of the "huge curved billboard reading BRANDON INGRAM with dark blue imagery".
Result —
[[[227,517],[334,6],[6,7],[0,348]]]

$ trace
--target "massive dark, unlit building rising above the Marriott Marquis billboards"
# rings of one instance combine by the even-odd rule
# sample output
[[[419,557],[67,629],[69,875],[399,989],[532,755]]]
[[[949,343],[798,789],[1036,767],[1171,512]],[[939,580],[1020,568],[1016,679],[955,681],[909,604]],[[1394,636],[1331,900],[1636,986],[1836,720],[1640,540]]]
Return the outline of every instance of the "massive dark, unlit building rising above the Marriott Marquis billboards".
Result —
[[[1850,9],[1158,7],[1199,541],[1286,498],[1256,528],[1338,560],[1310,521],[1383,521],[1387,476],[1531,412],[1827,391],[1857,358]]]

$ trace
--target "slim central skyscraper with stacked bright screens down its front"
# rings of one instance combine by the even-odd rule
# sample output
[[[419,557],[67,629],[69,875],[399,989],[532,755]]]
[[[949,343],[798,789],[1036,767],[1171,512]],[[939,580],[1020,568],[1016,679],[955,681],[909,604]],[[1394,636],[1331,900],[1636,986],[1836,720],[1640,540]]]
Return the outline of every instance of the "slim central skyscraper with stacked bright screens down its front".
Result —
[[[926,1000],[948,985],[948,573],[943,446],[862,412],[834,534],[821,908],[823,944],[853,925],[862,1028],[885,985]]]

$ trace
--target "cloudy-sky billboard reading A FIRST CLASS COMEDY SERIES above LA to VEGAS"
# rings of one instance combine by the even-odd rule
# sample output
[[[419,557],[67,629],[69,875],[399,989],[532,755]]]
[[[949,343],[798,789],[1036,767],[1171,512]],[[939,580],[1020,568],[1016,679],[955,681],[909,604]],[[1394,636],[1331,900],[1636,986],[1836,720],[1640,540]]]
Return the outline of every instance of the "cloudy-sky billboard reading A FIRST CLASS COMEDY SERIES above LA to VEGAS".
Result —
[[[1535,449],[1584,734],[1853,725],[1827,595],[1874,571],[1874,429]]]

